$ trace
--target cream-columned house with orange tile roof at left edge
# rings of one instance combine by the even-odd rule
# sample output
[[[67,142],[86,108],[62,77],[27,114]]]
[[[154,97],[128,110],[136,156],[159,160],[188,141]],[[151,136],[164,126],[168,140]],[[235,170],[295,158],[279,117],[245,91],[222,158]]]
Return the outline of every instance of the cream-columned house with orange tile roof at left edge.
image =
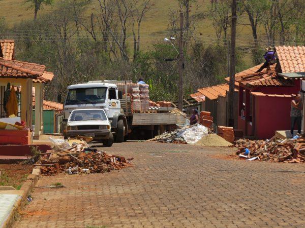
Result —
[[[22,88],[20,98],[20,110],[18,116],[21,121],[32,129],[32,90],[35,88],[35,135],[39,138],[43,133],[43,90],[44,85],[49,83],[54,74],[46,71],[45,65],[17,61],[14,59],[14,41],[0,41],[0,118],[5,118],[7,113],[4,107],[4,92],[8,83],[10,86]],[[0,120],[1,121],[1,120]]]

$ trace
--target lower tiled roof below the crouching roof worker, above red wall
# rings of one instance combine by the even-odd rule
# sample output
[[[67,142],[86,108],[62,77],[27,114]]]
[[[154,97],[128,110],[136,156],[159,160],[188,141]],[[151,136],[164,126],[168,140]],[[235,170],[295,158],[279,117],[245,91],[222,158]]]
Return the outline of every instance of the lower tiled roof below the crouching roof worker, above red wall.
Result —
[[[294,86],[292,80],[279,77],[275,70],[241,75],[235,81],[248,87]]]

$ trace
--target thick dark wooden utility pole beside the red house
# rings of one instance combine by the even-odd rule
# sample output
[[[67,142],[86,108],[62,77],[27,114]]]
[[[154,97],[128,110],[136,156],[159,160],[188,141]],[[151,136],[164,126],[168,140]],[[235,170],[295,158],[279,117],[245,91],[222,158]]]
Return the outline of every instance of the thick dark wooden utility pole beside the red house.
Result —
[[[229,90],[229,126],[234,127],[234,87],[235,87],[235,40],[236,40],[236,0],[232,0],[231,59]],[[249,104],[248,104],[249,105]]]

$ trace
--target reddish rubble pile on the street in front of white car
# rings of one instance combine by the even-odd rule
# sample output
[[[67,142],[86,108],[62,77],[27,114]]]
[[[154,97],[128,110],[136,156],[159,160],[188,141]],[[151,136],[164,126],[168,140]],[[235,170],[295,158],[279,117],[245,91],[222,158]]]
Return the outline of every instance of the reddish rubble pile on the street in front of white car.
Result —
[[[82,140],[79,143],[74,142],[70,148],[58,150],[58,145],[54,145],[52,150],[41,153],[41,158],[35,165],[41,166],[42,174],[100,173],[131,166],[132,159],[90,148]]]

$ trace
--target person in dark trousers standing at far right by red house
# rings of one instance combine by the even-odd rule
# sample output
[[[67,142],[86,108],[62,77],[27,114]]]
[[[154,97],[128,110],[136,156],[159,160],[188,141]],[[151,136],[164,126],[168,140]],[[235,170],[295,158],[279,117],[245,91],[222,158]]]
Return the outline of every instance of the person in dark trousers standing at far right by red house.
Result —
[[[301,96],[299,94],[295,95],[294,99],[291,101],[291,137],[293,137],[293,130],[294,126],[297,127],[297,133],[301,134],[301,123],[302,123],[302,113],[301,110],[303,109],[303,105],[301,102]]]

